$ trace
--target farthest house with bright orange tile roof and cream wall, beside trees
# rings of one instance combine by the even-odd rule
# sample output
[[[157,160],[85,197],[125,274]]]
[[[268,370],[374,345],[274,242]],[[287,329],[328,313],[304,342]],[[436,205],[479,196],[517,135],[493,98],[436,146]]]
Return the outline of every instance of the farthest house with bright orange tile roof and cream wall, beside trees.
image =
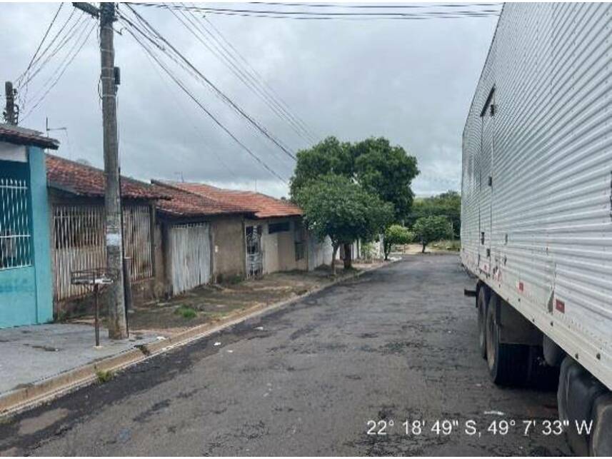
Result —
[[[317,241],[306,229],[299,206],[254,191],[229,190],[205,183],[166,182],[174,188],[244,213],[246,276],[276,271],[312,270],[331,263],[331,241]]]

